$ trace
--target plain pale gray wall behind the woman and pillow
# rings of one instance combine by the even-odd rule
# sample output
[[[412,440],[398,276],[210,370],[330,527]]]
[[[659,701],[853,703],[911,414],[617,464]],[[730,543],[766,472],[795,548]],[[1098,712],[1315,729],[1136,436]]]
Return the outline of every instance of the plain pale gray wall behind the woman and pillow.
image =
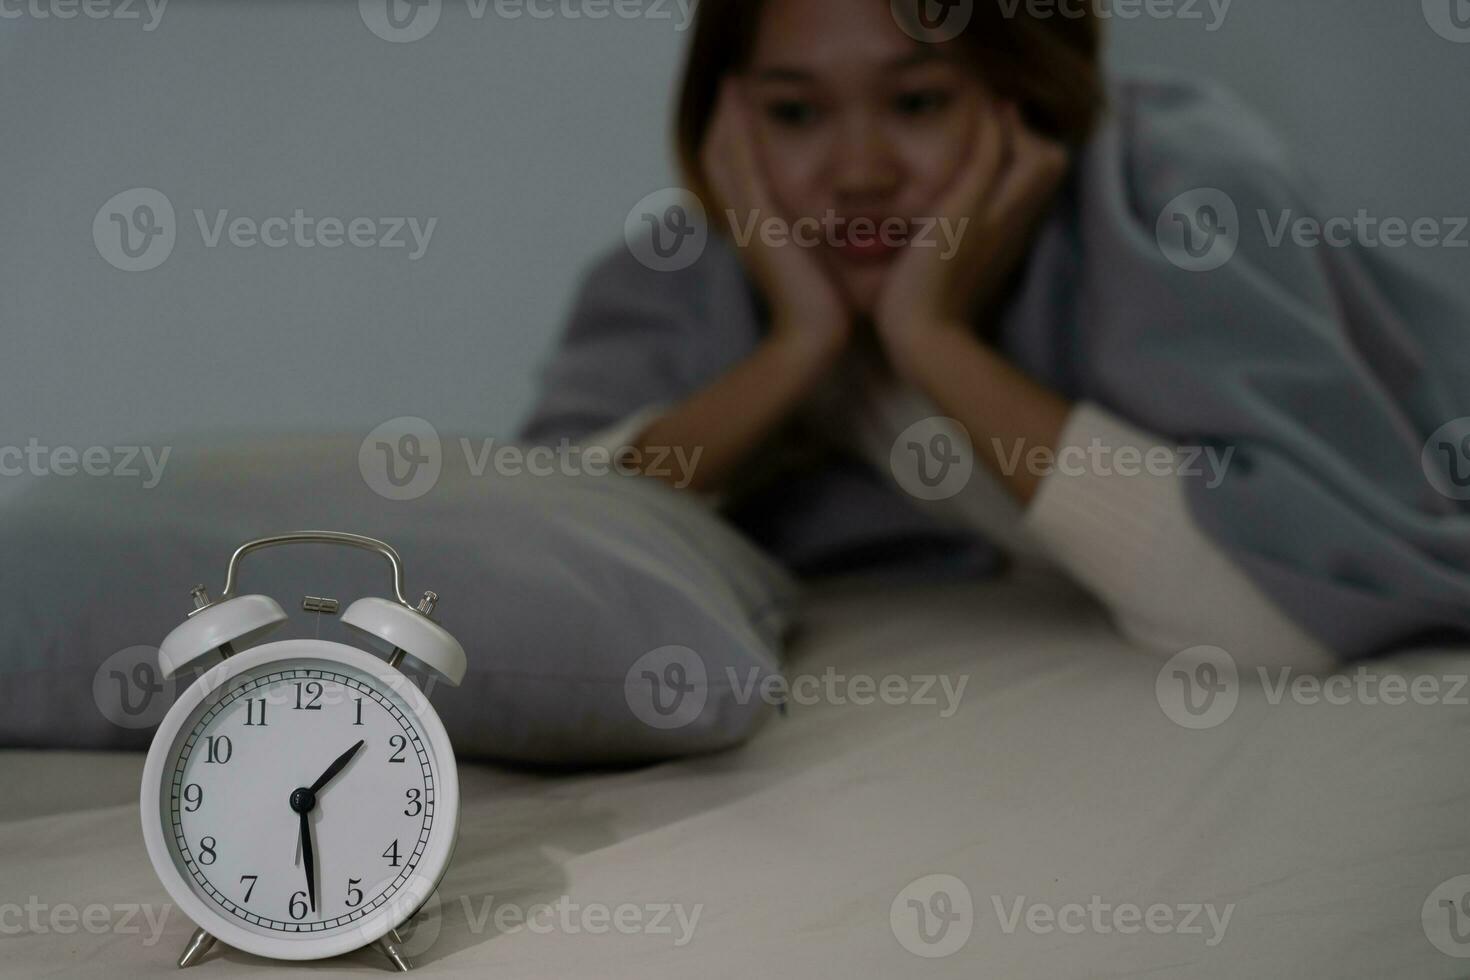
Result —
[[[685,37],[666,19],[476,21],[465,0],[409,44],[353,0],[173,0],[151,32],[0,19],[0,444],[400,414],[506,433],[578,272],[672,181]],[[1470,209],[1470,44],[1430,31],[1419,0],[1236,0],[1214,32],[1145,19],[1113,38],[1119,65],[1229,81],[1342,210]],[[93,244],[98,207],[132,187],[178,212],[151,272]],[[438,226],[413,263],[209,250],[196,207]],[[1470,298],[1464,251],[1421,259]]]

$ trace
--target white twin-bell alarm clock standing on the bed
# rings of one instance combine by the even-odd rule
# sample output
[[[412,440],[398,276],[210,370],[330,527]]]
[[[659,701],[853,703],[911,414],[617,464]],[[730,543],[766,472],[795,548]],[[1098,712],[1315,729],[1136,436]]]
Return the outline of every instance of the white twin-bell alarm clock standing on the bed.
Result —
[[[341,619],[375,655],[320,639],[257,642],[285,621],[265,595],[235,595],[240,560],[260,548],[337,544],[392,566],[394,598],[362,598]],[[451,685],[465,648],[413,607],[387,544],[298,532],[241,545],[223,595],[159,648],[165,677],[220,657],[159,724],[143,770],[143,837],[181,911],[198,927],[179,967],[215,942],[276,959],[319,959],[376,943],[409,970],[397,927],[438,887],[459,832],[459,774],[444,724],[398,670],[404,657]],[[303,608],[335,613],[334,599]],[[237,646],[240,648],[237,652]]]

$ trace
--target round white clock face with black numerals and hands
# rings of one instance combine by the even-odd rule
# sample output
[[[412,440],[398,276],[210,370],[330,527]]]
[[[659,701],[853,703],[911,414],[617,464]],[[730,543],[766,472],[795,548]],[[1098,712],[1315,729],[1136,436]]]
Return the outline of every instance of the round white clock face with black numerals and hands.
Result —
[[[442,867],[420,864],[426,852],[447,861],[431,842],[454,833],[453,814],[435,824],[454,763],[375,673],[266,660],[182,720],[162,758],[159,820],[178,874],[210,911],[266,936],[329,936],[412,898],[415,876],[438,880]]]

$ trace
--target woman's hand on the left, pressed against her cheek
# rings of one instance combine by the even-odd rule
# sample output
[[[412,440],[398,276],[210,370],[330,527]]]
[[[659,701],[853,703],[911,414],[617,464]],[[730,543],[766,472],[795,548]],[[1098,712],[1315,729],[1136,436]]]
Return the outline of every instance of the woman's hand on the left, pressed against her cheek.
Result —
[[[775,247],[761,241],[761,222],[781,219],[756,159],[754,128],[738,82],[720,87],[714,120],[700,151],[710,190],[710,220],[729,219],[732,229],[756,232],[736,242],[745,270],[772,307],[772,332],[800,350],[826,360],[841,353],[853,331],[853,313],[836,284],[822,269],[810,248],[789,237]],[[732,213],[729,213],[732,212]]]

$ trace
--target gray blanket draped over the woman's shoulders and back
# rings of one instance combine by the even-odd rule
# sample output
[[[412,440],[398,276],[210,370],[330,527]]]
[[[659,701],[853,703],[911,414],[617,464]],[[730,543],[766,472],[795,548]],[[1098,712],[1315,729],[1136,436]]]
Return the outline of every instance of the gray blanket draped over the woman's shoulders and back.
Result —
[[[1001,348],[1073,400],[1180,444],[1235,450],[1194,480],[1200,526],[1342,655],[1470,635],[1470,319],[1320,215],[1279,144],[1213,90],[1114,87],[1003,316]],[[588,278],[526,436],[578,436],[675,403],[760,341],[759,298],[711,237],[681,272],[619,250]],[[1458,420],[1458,422],[1457,422]],[[1448,429],[1446,429],[1448,426]],[[948,555],[933,525],[833,451],[735,495],[731,517],[798,572]]]

